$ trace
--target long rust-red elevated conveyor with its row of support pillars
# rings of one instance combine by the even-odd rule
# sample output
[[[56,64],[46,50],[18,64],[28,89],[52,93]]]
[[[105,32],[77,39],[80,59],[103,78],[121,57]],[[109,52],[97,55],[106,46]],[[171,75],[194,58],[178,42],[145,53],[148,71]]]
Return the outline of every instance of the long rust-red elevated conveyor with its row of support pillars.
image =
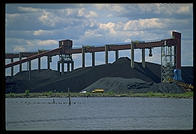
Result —
[[[163,39],[160,41],[154,42],[139,42],[139,43],[130,43],[130,44],[107,44],[105,46],[83,46],[82,48],[73,48],[73,49],[64,49],[63,46],[53,49],[46,50],[43,52],[20,52],[19,54],[7,53],[5,55],[6,59],[11,59],[11,63],[5,65],[5,68],[11,67],[13,75],[13,67],[15,65],[20,65],[20,71],[22,71],[22,63],[30,62],[31,60],[38,58],[38,68],[40,69],[40,58],[43,56],[56,56],[62,54],[62,51],[65,54],[79,54],[82,53],[82,67],[85,67],[85,53],[92,53],[92,66],[95,65],[95,52],[105,52],[105,63],[108,64],[108,51],[115,51],[116,60],[118,59],[119,50],[131,49],[131,67],[134,68],[134,49],[142,49],[142,66],[145,67],[145,49],[151,49],[154,47],[161,47],[166,41],[168,46],[174,46],[174,55],[175,55],[175,65],[176,69],[181,69],[181,33],[172,32],[172,38]],[[26,57],[22,59],[22,57]],[[12,59],[19,58],[19,61],[13,62]],[[49,62],[49,61],[48,61]],[[48,63],[49,66],[49,63]],[[49,69],[49,67],[48,67]]]

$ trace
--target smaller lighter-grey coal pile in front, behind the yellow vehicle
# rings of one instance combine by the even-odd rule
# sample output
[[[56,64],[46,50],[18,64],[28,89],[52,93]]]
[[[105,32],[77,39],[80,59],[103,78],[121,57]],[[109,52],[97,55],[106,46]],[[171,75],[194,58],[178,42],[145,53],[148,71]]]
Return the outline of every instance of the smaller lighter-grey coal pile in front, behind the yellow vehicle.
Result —
[[[105,77],[83,89],[83,91],[91,92],[94,89],[101,88],[104,92],[115,93],[184,93],[185,90],[175,83],[154,83],[146,82],[141,79],[126,79],[121,77]]]

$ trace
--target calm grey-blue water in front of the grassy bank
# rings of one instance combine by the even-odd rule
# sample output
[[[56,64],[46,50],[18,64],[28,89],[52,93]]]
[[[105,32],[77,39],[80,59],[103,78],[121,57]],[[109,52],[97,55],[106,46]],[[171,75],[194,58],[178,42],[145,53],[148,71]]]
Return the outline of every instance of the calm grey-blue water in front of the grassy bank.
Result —
[[[193,128],[193,99],[6,98],[7,130],[180,130]]]

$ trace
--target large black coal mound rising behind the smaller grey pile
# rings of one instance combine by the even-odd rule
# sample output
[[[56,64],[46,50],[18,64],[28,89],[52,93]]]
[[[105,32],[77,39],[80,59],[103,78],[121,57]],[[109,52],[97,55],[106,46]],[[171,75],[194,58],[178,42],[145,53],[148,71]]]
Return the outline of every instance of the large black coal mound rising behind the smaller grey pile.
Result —
[[[80,92],[104,77],[136,78],[159,83],[161,68],[159,64],[146,62],[144,69],[141,63],[135,62],[134,69],[131,69],[130,59],[121,57],[113,63],[78,68],[63,75],[54,70],[32,70],[31,80],[28,80],[28,74],[28,71],[22,71],[13,77],[6,77],[6,93],[24,93],[25,90],[67,92],[67,88],[72,92]],[[182,79],[186,83],[193,83],[193,67],[182,67]]]

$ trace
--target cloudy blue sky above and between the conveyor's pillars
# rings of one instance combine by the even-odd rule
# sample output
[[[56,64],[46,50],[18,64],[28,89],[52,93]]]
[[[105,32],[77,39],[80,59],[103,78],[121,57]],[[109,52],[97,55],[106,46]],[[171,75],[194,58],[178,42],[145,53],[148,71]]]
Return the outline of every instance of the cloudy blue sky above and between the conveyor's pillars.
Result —
[[[193,4],[6,4],[5,52],[37,52],[52,50],[64,39],[73,41],[73,48],[83,45],[104,46],[134,40],[158,41],[171,38],[171,32],[182,35],[182,66],[193,66]],[[160,48],[145,50],[147,62],[160,64]],[[130,50],[119,51],[119,57],[129,57]],[[135,61],[141,62],[141,50],[135,50]],[[95,54],[95,64],[104,64],[104,52]],[[91,66],[91,54],[86,53],[86,66]],[[18,58],[14,61],[19,60]],[[57,70],[58,56],[52,58],[51,69]],[[74,68],[82,66],[81,54],[74,54]],[[37,59],[32,69],[37,69]],[[46,57],[41,58],[47,68]],[[109,52],[109,63],[115,52]],[[5,60],[5,63],[10,63]],[[27,64],[23,64],[27,69]],[[66,69],[66,66],[65,66]],[[10,68],[6,75],[10,75]],[[14,74],[19,65],[14,67]]]

